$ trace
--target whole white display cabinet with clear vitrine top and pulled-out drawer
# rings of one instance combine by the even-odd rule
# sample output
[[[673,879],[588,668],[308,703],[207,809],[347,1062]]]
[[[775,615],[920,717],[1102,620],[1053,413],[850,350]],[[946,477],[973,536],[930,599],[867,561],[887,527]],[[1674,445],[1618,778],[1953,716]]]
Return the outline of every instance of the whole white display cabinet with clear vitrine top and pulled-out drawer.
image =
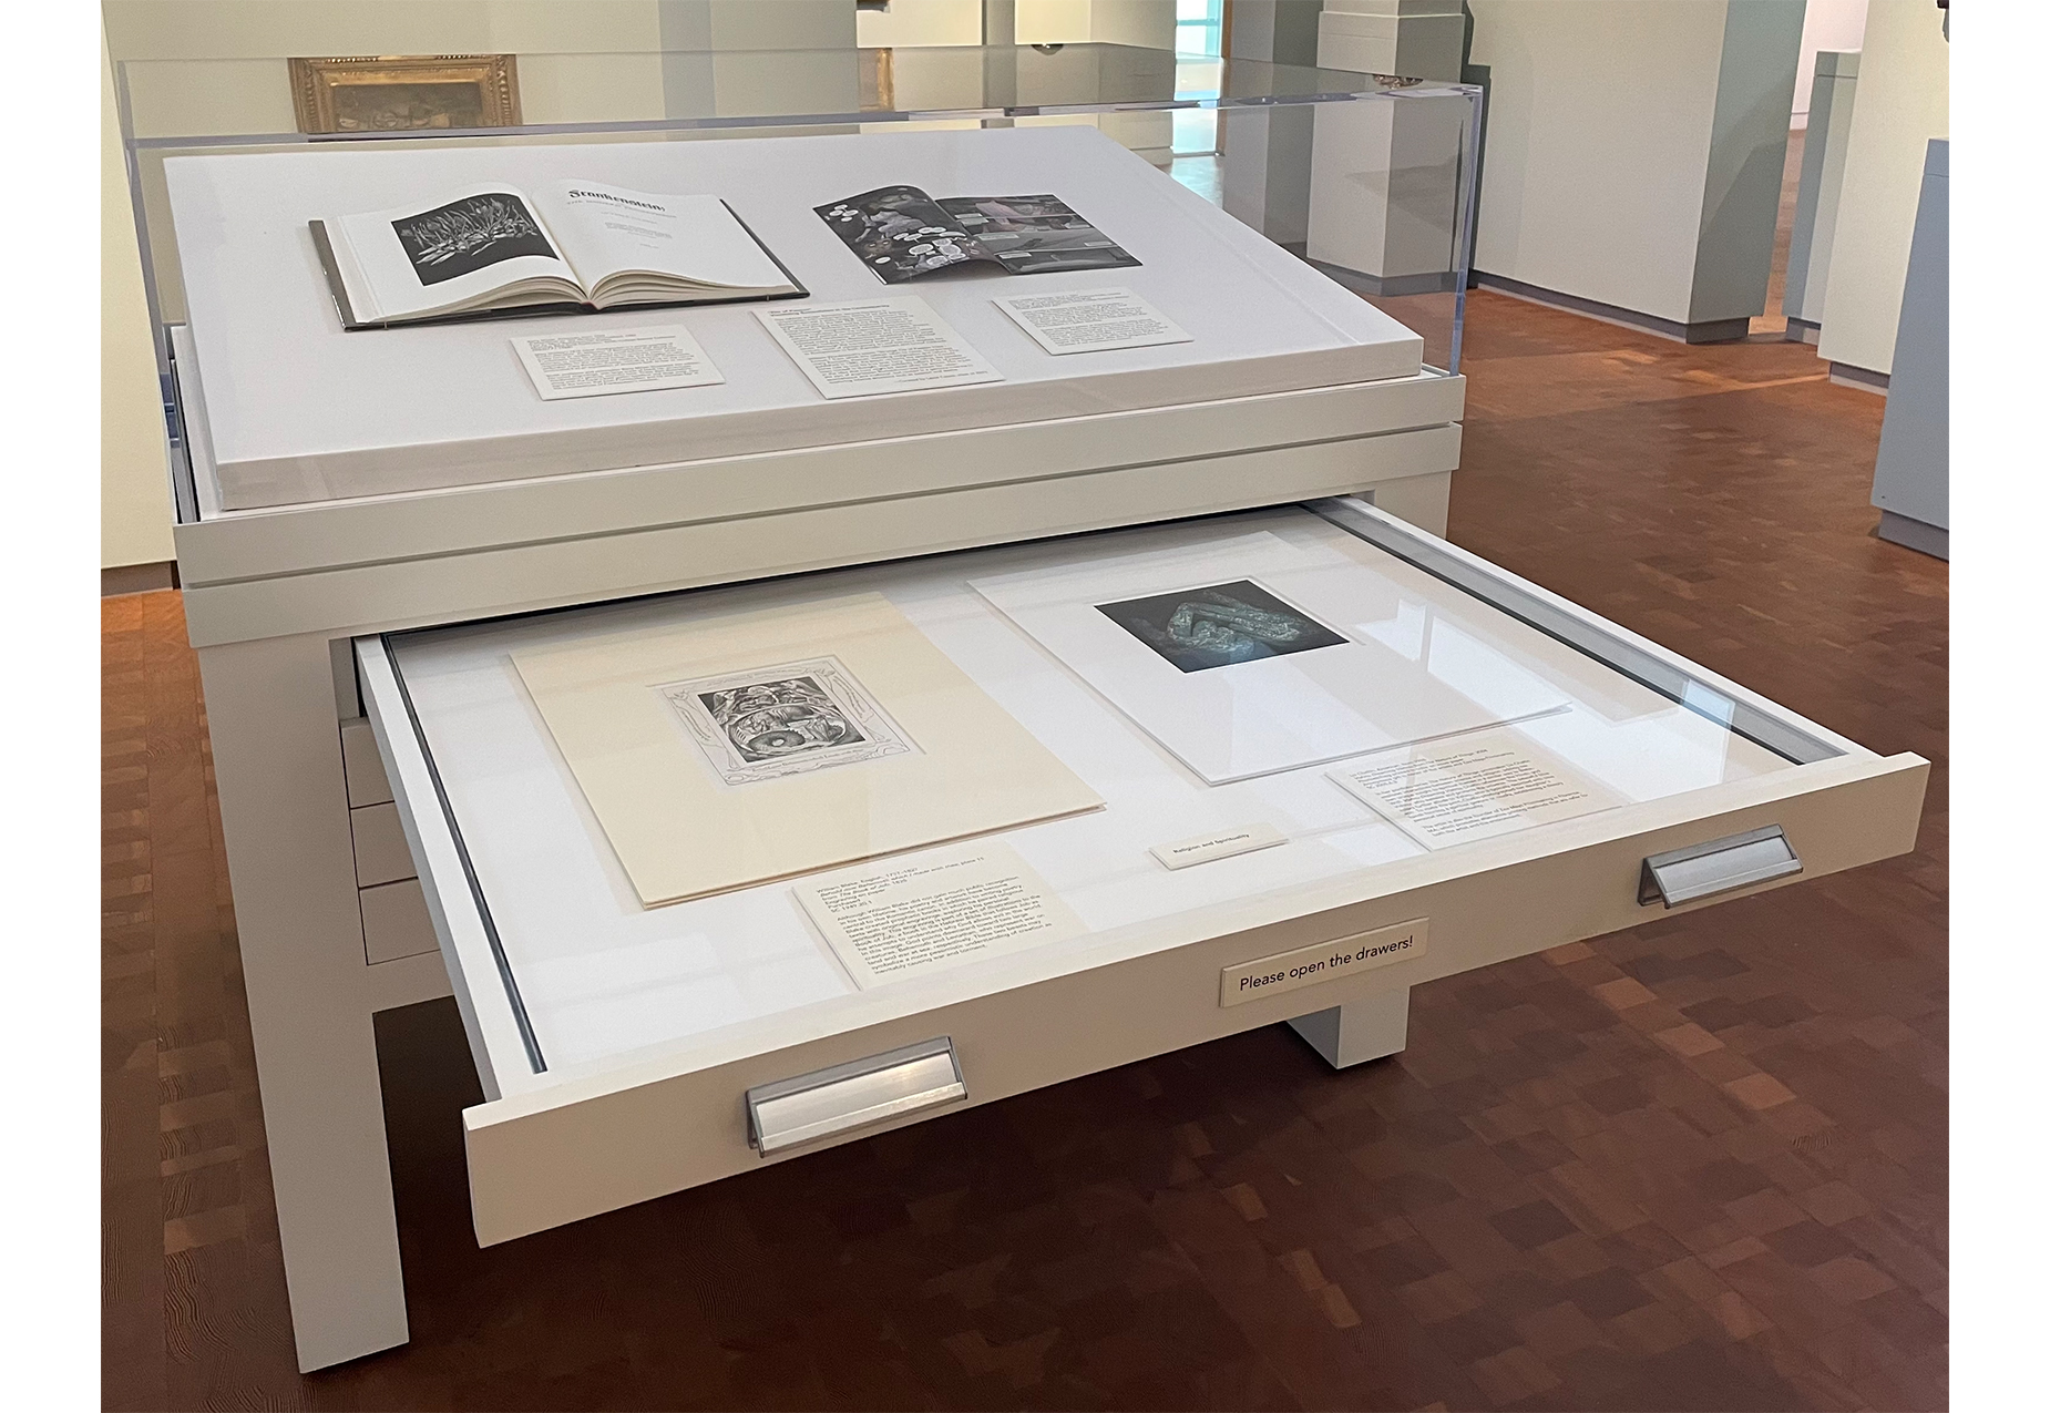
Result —
[[[1925,763],[1439,537],[1472,90],[1226,62],[1197,94],[1115,45],[519,72],[547,121],[344,137],[209,127],[271,66],[117,74],[301,1368],[406,1339],[379,1009],[461,1009],[492,1243],[1253,1025],[1392,1054],[1417,982],[1913,845]],[[1349,162],[1371,105],[1458,142]],[[1175,107],[1224,111],[1222,156],[1164,150]],[[1414,293],[1304,258],[1320,183],[1447,172]],[[1054,193],[1140,263],[896,287],[996,379],[877,398],[818,396],[763,306],[344,330],[308,221],[469,178],[720,195],[814,304],[886,291],[812,211],[890,183]],[[990,306],[1109,285],[1189,338],[1054,357]],[[508,347],[654,324],[726,381],[541,400]],[[1128,591],[1195,593],[1132,623],[1253,656],[1197,671],[1091,617]],[[515,660],[847,595],[1101,800],[894,855],[1000,851],[1058,937],[861,982],[799,906],[853,861],[642,906]],[[1451,796],[1390,804],[1417,771]]]

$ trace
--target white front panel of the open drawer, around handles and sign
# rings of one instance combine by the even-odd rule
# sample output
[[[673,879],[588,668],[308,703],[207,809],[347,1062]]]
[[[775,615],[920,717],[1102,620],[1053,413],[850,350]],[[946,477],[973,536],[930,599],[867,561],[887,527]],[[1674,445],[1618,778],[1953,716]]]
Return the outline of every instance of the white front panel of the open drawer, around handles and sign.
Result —
[[[631,1075],[609,1077],[619,1087],[597,1093],[578,1093],[584,1085],[570,1081],[558,1091],[486,1103],[463,1116],[478,1241],[508,1241],[748,1171],[765,1161],[748,1144],[742,1103],[748,1089],[929,1036],[953,1038],[966,1103],[988,1103],[1665,917],[1663,909],[1638,902],[1638,880],[1652,853],[1777,824],[1800,851],[1804,878],[1812,878],[1913,849],[1927,763],[1894,757],[1835,769],[1839,781],[1833,785],[1074,972],[888,1025],[646,1083],[627,1083]],[[1792,880],[1726,896],[1786,882]],[[1429,950],[1412,962],[1220,1005],[1224,968],[1410,919],[1429,921]],[[920,1116],[849,1138],[908,1122]]]

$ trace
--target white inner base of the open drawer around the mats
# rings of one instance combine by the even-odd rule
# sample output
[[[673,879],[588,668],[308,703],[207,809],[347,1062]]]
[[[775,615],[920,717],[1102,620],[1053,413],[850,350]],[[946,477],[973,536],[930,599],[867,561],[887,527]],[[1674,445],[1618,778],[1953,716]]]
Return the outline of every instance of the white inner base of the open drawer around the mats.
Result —
[[[1314,607],[1357,642],[1410,662],[1435,693],[1496,720],[1531,697],[1566,710],[1503,730],[1587,773],[1619,804],[1660,800],[1788,761],[1615,669],[1410,568],[1300,509],[1222,521],[978,550],[736,589],[433,630],[398,640],[428,749],[551,1073],[777,1015],[822,1025],[814,1007],[869,1017],[890,1005],[982,995],[1021,968],[1060,972],[1068,954],[1156,923],[1414,857],[1396,824],[1326,765],[1205,785],[972,582],[1086,570],[1121,554],[1199,552],[1271,535],[1326,580]],[[1343,566],[1351,566],[1351,582]],[[1086,574],[1084,574],[1086,576]],[[1294,587],[1294,584],[1292,584]],[[998,705],[1103,800],[1099,812],[998,835],[1060,894],[1089,937],[1025,958],[976,962],[857,993],[806,923],[789,882],[644,909],[576,788],[510,654],[586,636],[881,593]],[[1410,677],[1396,691],[1414,687]],[[1168,872],[1150,849],[1267,824],[1289,843]],[[916,855],[912,855],[916,857]],[[836,872],[810,876],[828,882]],[[871,1017],[869,1017],[871,1019]]]

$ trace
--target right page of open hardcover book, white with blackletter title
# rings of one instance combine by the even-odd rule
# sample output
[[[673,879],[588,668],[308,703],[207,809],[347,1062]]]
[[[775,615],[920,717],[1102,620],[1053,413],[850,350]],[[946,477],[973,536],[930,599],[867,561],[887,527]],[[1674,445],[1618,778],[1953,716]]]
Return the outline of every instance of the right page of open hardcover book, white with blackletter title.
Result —
[[[717,197],[662,197],[558,183],[549,226],[590,301],[633,304],[685,289],[765,293],[789,277]]]

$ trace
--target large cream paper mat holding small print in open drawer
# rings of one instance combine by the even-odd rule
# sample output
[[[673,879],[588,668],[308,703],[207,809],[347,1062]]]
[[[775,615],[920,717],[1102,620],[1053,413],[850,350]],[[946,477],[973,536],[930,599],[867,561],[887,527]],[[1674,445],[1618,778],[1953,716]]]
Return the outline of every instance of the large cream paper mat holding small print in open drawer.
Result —
[[[881,595],[512,662],[646,906],[1103,806]]]

